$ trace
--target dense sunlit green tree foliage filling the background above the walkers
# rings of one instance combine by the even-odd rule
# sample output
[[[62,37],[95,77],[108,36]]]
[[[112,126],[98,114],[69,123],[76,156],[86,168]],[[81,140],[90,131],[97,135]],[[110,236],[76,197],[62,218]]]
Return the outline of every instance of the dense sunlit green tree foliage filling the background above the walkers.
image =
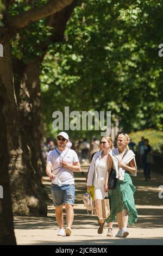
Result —
[[[29,8],[19,0],[9,13]],[[52,28],[46,26],[46,19],[15,36],[13,57],[27,63],[45,55],[40,81],[47,135],[52,133],[52,113],[64,112],[65,106],[70,111],[111,111],[112,125],[118,120],[120,129],[127,132],[162,131],[163,58],[158,56],[162,10],[162,1],[154,0],[78,1],[64,42],[52,43]],[[90,131],[82,131],[86,134]]]

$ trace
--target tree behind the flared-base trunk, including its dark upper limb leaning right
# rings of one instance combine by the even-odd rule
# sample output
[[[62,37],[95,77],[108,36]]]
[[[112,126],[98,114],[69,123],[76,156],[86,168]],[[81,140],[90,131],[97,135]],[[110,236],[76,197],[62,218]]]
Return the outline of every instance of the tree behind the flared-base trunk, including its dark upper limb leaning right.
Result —
[[[47,20],[47,25],[53,27],[51,41],[53,43],[64,41],[64,32],[67,21],[70,19],[72,11],[77,1],[62,9],[59,13],[51,15]],[[41,89],[40,89],[40,65],[47,51],[47,45],[37,45],[42,49],[42,56],[28,59],[25,65],[21,60],[14,59],[14,74],[18,78],[15,81],[16,97],[21,115],[23,135],[30,148],[32,164],[36,170],[37,178],[40,179],[45,164],[41,154]],[[21,67],[21,68],[20,68]]]

